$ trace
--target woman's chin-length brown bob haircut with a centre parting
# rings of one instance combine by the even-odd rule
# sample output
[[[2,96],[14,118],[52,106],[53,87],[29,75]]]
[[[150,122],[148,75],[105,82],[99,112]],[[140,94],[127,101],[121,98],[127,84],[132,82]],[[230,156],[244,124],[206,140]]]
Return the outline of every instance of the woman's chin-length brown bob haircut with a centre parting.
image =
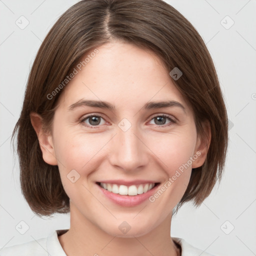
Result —
[[[180,78],[170,79],[193,111],[197,135],[205,145],[208,141],[206,159],[192,169],[174,214],[187,201],[199,206],[221,179],[228,141],[227,113],[213,61],[196,29],[162,0],[81,0],[58,18],[43,40],[12,133],[12,139],[17,133],[22,194],[39,216],[67,213],[70,208],[58,166],[44,162],[29,114],[40,114],[45,131],[50,132],[64,88],[53,91],[84,54],[112,39],[153,51],[168,72],[174,67],[182,71]],[[211,131],[210,141],[205,123]]]

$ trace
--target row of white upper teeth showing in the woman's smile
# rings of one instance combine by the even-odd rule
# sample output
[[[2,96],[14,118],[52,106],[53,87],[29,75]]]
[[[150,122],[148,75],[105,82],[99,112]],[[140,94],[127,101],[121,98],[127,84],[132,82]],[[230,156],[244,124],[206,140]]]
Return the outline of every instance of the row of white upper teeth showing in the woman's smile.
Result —
[[[139,185],[117,185],[117,184],[109,184],[109,183],[100,183],[100,186],[106,189],[109,192],[115,194],[122,194],[122,195],[137,195],[142,194],[153,188],[155,183],[146,183],[146,184],[139,184]]]

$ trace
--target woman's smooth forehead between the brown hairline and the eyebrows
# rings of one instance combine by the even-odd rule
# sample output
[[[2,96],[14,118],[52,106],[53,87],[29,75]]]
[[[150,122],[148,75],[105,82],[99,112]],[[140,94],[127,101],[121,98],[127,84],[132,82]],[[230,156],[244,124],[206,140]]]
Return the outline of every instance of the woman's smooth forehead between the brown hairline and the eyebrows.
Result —
[[[77,73],[60,95],[65,108],[81,98],[115,102],[116,108],[139,106],[150,99],[185,104],[154,52],[118,41],[105,43],[97,51],[80,58],[80,69],[75,67]]]

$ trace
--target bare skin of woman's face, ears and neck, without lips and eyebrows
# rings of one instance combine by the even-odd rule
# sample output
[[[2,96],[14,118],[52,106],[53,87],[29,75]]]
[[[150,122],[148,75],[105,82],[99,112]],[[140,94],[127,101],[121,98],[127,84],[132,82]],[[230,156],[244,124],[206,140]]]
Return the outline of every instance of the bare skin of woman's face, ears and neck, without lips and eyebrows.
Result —
[[[51,132],[43,132],[42,120],[31,113],[45,162],[58,165],[70,198],[70,229],[59,242],[69,255],[178,255],[170,236],[172,209],[188,184],[191,168],[203,164],[206,146],[197,136],[192,110],[174,86],[169,71],[151,51],[112,41],[61,91]],[[115,110],[68,107],[80,99],[104,100]],[[184,106],[142,109],[148,101],[175,100]],[[93,126],[88,114],[102,114]],[[154,115],[167,114],[163,124]],[[118,123],[126,118],[125,132]],[[170,124],[170,125],[168,125]],[[95,128],[96,127],[96,128]],[[210,135],[210,134],[209,134]],[[179,166],[200,151],[185,171],[154,202],[132,207],[117,205],[105,197],[98,180],[150,179],[162,186]],[[67,178],[75,169],[80,178]],[[124,234],[118,226],[126,221]]]

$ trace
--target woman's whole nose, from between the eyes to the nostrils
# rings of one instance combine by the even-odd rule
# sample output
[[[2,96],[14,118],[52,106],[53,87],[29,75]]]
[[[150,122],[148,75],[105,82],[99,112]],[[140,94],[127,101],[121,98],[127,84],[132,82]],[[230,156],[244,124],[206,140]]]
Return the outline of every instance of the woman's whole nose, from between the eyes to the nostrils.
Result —
[[[119,123],[114,137],[114,146],[111,153],[111,163],[124,170],[134,170],[145,164],[145,147],[139,139],[139,130],[136,124],[131,124],[126,118]]]

